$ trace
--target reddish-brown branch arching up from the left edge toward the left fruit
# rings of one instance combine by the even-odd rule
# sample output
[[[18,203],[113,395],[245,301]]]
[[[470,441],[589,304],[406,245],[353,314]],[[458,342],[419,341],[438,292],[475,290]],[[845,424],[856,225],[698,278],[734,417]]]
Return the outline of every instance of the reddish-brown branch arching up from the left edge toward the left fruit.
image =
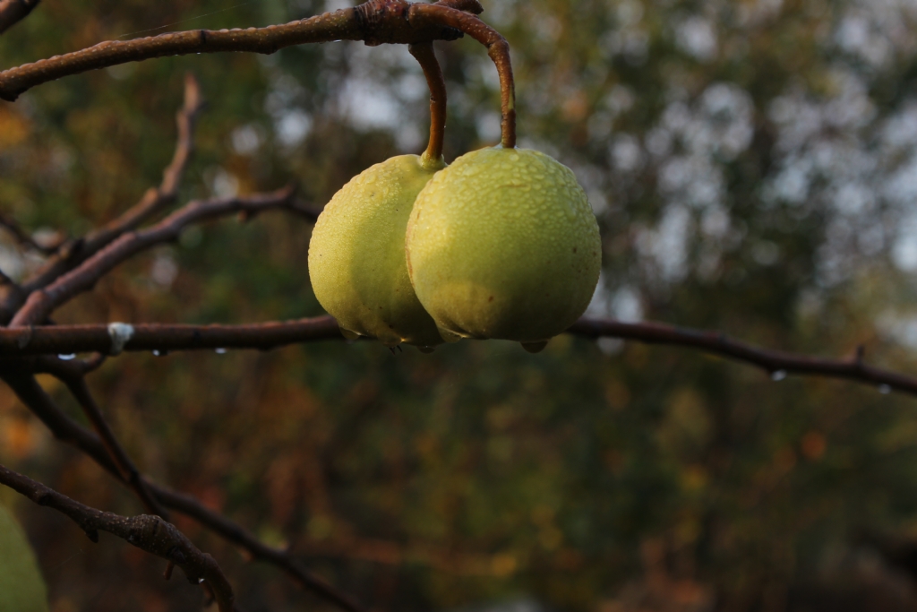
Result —
[[[129,232],[116,239],[105,249],[83,261],[44,289],[32,292],[25,306],[17,312],[10,327],[35,325],[45,320],[51,312],[73,296],[91,289],[106,273],[122,261],[158,244],[178,239],[182,229],[234,213],[258,215],[264,211],[287,208],[306,217],[311,213],[293,200],[293,189],[287,188],[272,194],[249,195],[217,200],[196,201],[175,211],[159,224],[139,232]]]

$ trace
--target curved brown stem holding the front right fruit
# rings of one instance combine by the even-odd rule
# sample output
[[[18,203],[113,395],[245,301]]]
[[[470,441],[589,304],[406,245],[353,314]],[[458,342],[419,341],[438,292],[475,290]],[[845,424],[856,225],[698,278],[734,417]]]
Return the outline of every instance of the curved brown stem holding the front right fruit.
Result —
[[[450,6],[423,3],[411,5],[408,20],[414,24],[415,21],[424,19],[449,28],[456,28],[487,47],[487,54],[491,56],[491,60],[497,67],[497,73],[500,75],[500,96],[503,107],[501,144],[504,149],[514,149],[516,143],[515,82],[509,43],[500,32],[485,24],[478,17]]]

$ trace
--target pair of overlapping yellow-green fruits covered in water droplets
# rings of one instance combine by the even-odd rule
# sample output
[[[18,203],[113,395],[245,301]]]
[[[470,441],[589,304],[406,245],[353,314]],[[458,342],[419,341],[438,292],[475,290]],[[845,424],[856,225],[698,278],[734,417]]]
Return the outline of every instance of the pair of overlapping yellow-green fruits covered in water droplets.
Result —
[[[331,199],[309,244],[315,296],[345,337],[422,351],[461,338],[540,350],[585,311],[601,266],[573,172],[501,147],[450,166],[417,155],[372,166]]]

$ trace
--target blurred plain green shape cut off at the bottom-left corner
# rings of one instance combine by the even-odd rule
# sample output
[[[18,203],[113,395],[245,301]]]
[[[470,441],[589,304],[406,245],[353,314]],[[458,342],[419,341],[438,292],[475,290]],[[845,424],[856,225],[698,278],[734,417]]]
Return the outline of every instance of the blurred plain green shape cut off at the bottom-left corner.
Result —
[[[0,610],[48,612],[48,594],[35,555],[16,519],[0,505]]]

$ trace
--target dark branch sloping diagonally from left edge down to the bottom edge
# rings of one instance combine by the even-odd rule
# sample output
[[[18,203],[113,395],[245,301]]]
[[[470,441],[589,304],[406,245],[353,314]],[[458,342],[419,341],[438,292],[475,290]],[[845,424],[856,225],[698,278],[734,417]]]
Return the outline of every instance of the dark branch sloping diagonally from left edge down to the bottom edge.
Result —
[[[335,327],[337,328],[337,324],[335,324]],[[33,372],[53,372],[52,369],[48,368],[48,362],[42,360],[29,364],[27,361],[20,360],[18,366],[18,369],[3,371],[0,373],[0,378],[10,386],[19,400],[28,406],[33,414],[39,417],[55,438],[71,443],[89,455],[105,471],[127,484],[123,473],[116,463],[112,461],[102,440],[92,431],[83,428],[71,417],[65,415],[61,408],[54,403],[50,395],[35,380],[32,375]],[[25,369],[26,367],[31,367],[31,370]],[[364,608],[359,606],[351,597],[306,571],[290,553],[281,549],[271,548],[260,542],[249,531],[243,529],[232,520],[208,509],[191,495],[183,495],[167,487],[151,483],[146,478],[142,480],[150,493],[163,506],[192,517],[204,525],[205,528],[211,529],[224,539],[249,552],[252,559],[276,565],[304,588],[313,591],[316,595],[326,598],[349,612],[365,612]]]

